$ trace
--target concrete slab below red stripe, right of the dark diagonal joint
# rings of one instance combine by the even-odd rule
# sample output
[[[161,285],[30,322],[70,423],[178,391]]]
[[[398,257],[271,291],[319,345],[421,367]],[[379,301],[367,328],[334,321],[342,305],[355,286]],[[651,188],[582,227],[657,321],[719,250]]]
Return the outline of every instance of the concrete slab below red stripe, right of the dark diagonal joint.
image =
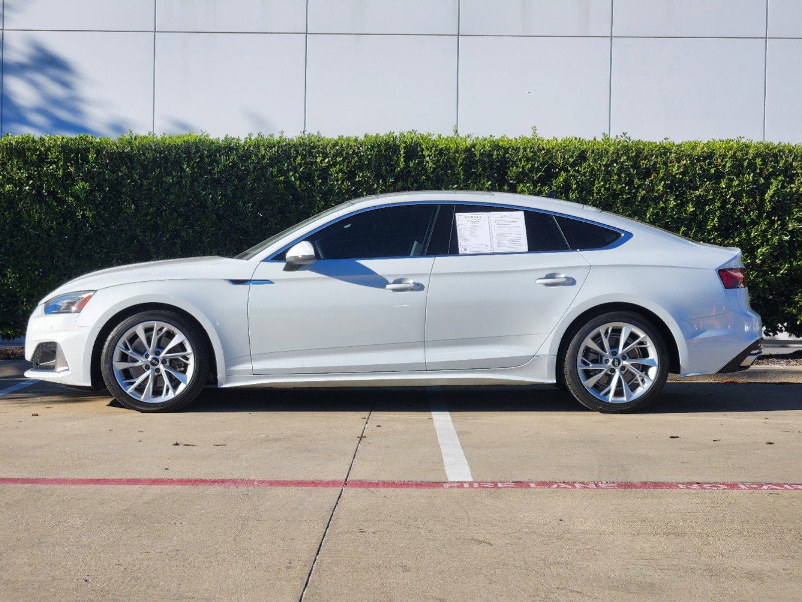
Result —
[[[764,492],[346,489],[305,600],[797,600],[800,510]]]

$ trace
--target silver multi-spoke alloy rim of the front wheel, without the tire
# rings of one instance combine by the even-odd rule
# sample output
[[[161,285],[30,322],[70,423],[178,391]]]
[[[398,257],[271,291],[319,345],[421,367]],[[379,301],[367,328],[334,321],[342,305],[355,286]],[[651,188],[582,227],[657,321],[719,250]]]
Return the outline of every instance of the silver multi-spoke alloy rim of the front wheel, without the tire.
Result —
[[[117,384],[131,397],[157,404],[186,388],[195,372],[189,340],[170,323],[138,323],[119,337],[112,356]]]

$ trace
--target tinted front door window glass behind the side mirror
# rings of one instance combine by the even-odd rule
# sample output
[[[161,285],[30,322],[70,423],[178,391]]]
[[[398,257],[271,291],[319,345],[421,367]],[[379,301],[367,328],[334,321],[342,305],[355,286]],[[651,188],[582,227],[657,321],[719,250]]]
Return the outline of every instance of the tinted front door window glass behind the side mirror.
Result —
[[[363,211],[306,238],[318,259],[418,257],[435,223],[437,205],[398,205]]]

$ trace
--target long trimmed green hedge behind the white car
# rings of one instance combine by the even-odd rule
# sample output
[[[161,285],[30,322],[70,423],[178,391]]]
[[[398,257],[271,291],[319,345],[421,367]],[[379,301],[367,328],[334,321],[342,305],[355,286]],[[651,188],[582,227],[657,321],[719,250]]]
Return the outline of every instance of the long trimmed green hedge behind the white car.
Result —
[[[327,206],[414,189],[554,191],[739,246],[766,326],[802,335],[802,145],[405,133],[2,137],[0,336],[87,271],[236,254]]]

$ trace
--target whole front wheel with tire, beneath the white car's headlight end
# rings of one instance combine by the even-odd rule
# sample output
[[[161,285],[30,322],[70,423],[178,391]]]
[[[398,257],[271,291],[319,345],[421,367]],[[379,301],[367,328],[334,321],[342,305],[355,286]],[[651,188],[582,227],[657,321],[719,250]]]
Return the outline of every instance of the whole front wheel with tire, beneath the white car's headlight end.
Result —
[[[209,372],[205,340],[172,311],[144,311],[120,322],[101,354],[103,381],[130,409],[169,412],[204,388]]]

